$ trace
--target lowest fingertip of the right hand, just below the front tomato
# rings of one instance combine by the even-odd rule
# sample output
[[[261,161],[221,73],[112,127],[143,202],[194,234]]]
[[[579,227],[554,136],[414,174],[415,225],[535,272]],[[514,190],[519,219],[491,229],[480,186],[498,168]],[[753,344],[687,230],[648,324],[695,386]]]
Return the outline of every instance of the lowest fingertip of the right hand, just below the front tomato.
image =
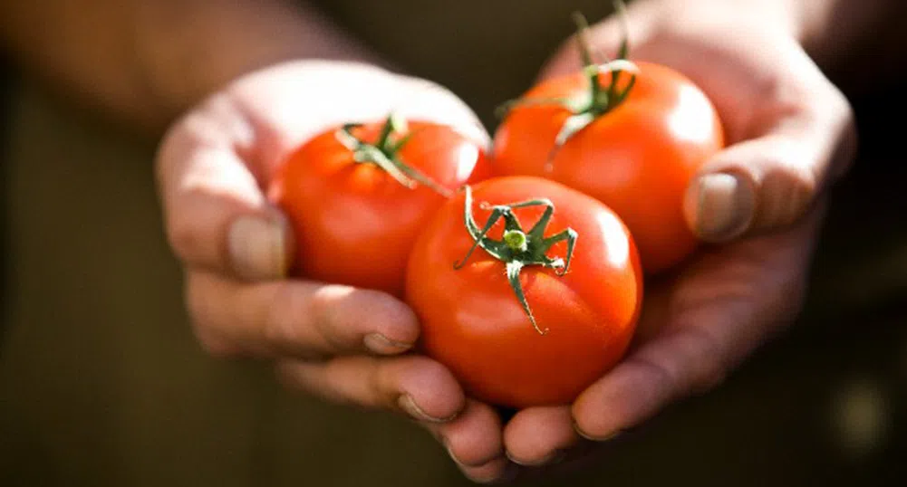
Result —
[[[524,409],[513,416],[503,434],[507,456],[530,467],[559,463],[580,441],[567,406]]]

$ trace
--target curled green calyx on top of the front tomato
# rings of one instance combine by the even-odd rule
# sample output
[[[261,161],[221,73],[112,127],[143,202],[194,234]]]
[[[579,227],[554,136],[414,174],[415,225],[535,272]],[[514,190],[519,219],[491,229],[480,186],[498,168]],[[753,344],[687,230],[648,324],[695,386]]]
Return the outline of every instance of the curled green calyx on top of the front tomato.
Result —
[[[480,205],[482,209],[491,209],[492,214],[485,221],[483,228],[479,228],[473,217],[473,192],[469,186],[464,187],[465,196],[463,204],[463,219],[466,230],[473,238],[473,247],[469,248],[465,257],[458,262],[453,263],[453,268],[460,269],[466,264],[466,261],[473,255],[476,248],[483,248],[493,258],[497,258],[505,264],[507,269],[507,279],[513,289],[513,293],[520,300],[520,305],[529,320],[532,327],[540,335],[548,333],[548,328],[542,330],[532,315],[532,308],[526,301],[523,294],[522,284],[520,283],[520,273],[523,268],[528,266],[541,266],[543,268],[552,268],[558,277],[567,273],[570,268],[570,261],[573,257],[573,248],[576,246],[576,239],[579,236],[574,229],[564,229],[550,237],[545,237],[545,229],[551,221],[551,215],[554,214],[554,203],[551,200],[540,198],[536,200],[525,200],[518,203],[506,205]],[[532,226],[528,232],[522,229],[520,220],[513,213],[514,209],[543,206],[544,212],[541,218]],[[501,240],[495,240],[488,237],[488,232],[493,228],[498,220],[504,221],[504,233]],[[561,241],[567,241],[567,256],[565,258],[550,258],[547,253],[552,246]]]

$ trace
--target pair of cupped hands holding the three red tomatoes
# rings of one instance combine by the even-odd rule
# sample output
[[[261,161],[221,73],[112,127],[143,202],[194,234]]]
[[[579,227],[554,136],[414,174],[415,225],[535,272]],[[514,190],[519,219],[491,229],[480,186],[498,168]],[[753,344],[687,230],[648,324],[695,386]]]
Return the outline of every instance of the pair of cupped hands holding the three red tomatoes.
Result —
[[[502,424],[444,366],[406,353],[419,325],[404,303],[286,278],[292,236],[262,188],[299,143],[391,109],[488,141],[453,93],[356,63],[301,61],[249,74],[163,141],[166,229],[202,346],[273,360],[286,384],[330,401],[408,414],[477,482],[501,479],[515,464],[552,463],[719,384],[799,310],[823,190],[853,158],[853,116],[784,29],[671,5],[630,8],[631,58],[687,74],[717,105],[730,145],[691,184],[685,211],[697,235],[722,245],[648,283],[629,356],[574,404],[522,410]],[[619,36],[610,19],[590,40],[614,53]],[[565,44],[542,77],[577,68],[575,45]]]

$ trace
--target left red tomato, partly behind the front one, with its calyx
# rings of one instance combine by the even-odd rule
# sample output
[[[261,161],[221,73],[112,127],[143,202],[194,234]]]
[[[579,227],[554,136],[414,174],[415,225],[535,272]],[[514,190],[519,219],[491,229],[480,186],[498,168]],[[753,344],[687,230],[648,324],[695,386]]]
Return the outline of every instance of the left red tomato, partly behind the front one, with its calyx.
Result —
[[[292,223],[294,274],[400,297],[418,231],[489,169],[483,148],[451,127],[389,117],[307,141],[278,168],[268,196]]]

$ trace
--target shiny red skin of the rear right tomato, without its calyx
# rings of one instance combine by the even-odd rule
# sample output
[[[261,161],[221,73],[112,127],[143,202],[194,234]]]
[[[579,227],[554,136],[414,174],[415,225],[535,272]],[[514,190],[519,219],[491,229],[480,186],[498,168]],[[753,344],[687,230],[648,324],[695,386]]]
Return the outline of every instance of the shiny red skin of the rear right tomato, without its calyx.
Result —
[[[607,204],[632,232],[647,273],[655,274],[697,248],[683,216],[684,193],[725,136],[714,105],[688,78],[636,64],[640,73],[628,98],[577,132],[550,166],[555,138],[571,115],[552,105],[513,109],[494,135],[493,163],[498,174],[550,178]],[[603,75],[602,83],[609,78]],[[587,80],[582,73],[554,78],[525,97],[586,93]]]

